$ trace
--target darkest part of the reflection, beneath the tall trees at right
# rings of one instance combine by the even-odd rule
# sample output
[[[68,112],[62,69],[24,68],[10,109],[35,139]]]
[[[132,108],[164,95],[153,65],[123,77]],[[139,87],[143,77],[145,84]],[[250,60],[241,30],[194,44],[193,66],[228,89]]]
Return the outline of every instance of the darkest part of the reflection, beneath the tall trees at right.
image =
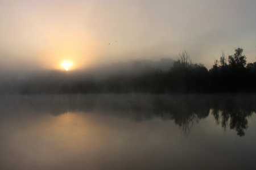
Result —
[[[183,96],[184,97],[184,96]],[[245,130],[248,128],[247,117],[250,117],[255,112],[255,97],[251,95],[222,95],[222,96],[187,96],[185,98],[177,98],[175,101],[166,103],[164,101],[155,102],[153,104],[155,111],[160,111],[159,108],[166,108],[174,119],[175,124],[179,125],[181,133],[188,135],[193,124],[199,122],[201,118],[208,117],[208,114],[213,114],[216,124],[221,123],[222,128],[226,131],[229,125],[230,129],[237,131],[237,135],[242,137],[245,135]],[[161,114],[163,112],[155,112]]]

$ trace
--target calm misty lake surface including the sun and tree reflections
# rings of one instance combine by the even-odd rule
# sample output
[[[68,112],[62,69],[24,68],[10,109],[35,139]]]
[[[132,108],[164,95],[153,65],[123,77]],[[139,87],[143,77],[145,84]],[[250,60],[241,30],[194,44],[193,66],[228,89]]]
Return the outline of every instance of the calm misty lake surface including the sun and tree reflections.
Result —
[[[256,169],[255,101],[0,96],[0,169]]]

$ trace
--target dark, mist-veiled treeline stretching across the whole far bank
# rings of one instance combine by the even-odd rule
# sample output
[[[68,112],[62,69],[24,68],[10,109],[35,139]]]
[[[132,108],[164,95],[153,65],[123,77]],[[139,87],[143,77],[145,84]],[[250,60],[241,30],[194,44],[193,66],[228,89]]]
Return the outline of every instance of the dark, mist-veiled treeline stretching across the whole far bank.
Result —
[[[47,76],[13,79],[3,82],[1,94],[100,94],[143,92],[152,94],[189,94],[213,92],[255,92],[256,62],[247,63],[242,48],[220,62],[215,59],[212,69],[192,63],[184,50],[169,70],[152,68],[134,62],[133,70],[96,79],[85,73],[52,71]],[[135,72],[136,70],[136,72]]]

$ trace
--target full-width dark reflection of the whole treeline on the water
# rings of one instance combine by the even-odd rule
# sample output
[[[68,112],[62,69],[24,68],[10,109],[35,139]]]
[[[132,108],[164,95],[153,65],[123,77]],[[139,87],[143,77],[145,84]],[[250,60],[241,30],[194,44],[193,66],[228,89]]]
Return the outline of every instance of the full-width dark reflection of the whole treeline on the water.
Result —
[[[248,128],[247,118],[256,111],[254,94],[31,95],[0,96],[0,101],[0,112],[9,112],[10,115],[21,111],[55,116],[66,112],[94,112],[137,122],[161,117],[162,120],[174,120],[184,135],[188,135],[195,123],[210,113],[224,131],[229,127],[242,137]]]

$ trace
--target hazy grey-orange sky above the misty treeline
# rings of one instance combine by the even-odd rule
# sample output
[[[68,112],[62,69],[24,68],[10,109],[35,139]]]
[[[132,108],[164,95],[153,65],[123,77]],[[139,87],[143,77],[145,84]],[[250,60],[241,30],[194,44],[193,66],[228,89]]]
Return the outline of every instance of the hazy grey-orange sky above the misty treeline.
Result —
[[[221,49],[256,61],[256,1],[2,1],[1,71],[72,69],[129,58],[212,67]],[[110,44],[109,44],[110,43]]]

